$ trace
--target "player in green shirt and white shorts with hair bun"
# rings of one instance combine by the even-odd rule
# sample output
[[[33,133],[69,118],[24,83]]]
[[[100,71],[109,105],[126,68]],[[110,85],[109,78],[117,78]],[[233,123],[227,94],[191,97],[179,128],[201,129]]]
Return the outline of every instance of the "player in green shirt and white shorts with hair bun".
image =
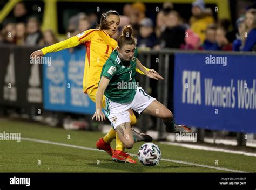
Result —
[[[123,34],[118,38],[118,47],[102,68],[96,93],[96,112],[92,117],[103,121],[106,115],[126,149],[131,149],[134,144],[129,109],[161,118],[167,132],[191,132],[187,126],[176,125],[172,112],[136,85],[136,68],[149,78],[158,80],[158,77],[157,74],[146,71],[138,61],[136,39],[132,37],[132,32],[131,26],[124,26]],[[103,95],[106,97],[105,115],[102,112]],[[119,161],[118,158],[112,159]]]

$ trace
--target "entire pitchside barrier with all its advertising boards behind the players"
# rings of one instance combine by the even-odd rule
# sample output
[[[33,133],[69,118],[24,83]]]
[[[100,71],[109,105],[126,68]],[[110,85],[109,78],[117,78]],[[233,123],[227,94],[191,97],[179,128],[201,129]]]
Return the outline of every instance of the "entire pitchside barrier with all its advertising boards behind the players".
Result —
[[[49,111],[93,114],[95,104],[82,90],[84,48],[48,54],[50,59],[41,60],[44,64],[30,60],[36,49],[0,46],[0,104],[35,111],[44,107]],[[156,82],[137,75],[139,85],[167,105],[177,123],[256,133],[255,53],[166,49],[140,51],[139,59],[165,78]],[[222,62],[214,64],[214,59]],[[140,116],[142,131],[147,130],[147,117]],[[160,119],[157,130],[158,138],[165,138]]]

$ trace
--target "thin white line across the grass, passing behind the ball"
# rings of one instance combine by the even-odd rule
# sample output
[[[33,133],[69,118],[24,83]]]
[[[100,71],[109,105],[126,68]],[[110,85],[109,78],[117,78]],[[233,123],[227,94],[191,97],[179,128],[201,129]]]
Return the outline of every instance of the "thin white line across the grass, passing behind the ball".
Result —
[[[64,143],[51,142],[51,141],[48,141],[48,140],[39,140],[39,139],[23,138],[23,137],[22,137],[21,139],[22,139],[22,140],[32,141],[32,142],[37,142],[37,143],[53,144],[53,145],[66,146],[66,147],[73,147],[73,148],[76,148],[76,149],[93,150],[93,151],[103,151],[103,150],[98,150],[98,149],[89,148],[89,147],[84,147],[84,146],[76,146],[76,145],[71,145],[71,144],[64,144]],[[131,154],[131,156],[137,156],[137,155],[136,155],[136,154]],[[240,170],[231,170],[231,169],[224,168],[224,167],[215,167],[215,166],[201,165],[201,164],[196,164],[196,163],[189,163],[189,162],[187,162],[187,161],[170,160],[170,159],[164,159],[164,158],[162,158],[161,160],[163,160],[163,161],[169,161],[169,162],[172,162],[172,163],[186,164],[186,165],[191,165],[191,166],[212,168],[212,169],[214,169],[214,170],[223,170],[223,171],[228,171],[228,172],[245,172],[245,171],[240,171]]]

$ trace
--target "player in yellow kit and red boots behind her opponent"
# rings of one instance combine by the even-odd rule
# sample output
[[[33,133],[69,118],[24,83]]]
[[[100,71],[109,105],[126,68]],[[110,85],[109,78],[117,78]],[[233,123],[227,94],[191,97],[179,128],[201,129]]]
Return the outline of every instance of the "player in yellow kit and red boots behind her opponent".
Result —
[[[88,94],[93,102],[96,100],[96,92],[98,89],[98,83],[100,80],[100,73],[106,60],[109,58],[112,51],[117,47],[117,41],[111,38],[117,30],[120,23],[120,16],[116,11],[108,11],[103,13],[100,18],[100,24],[97,29],[86,30],[77,36],[71,37],[67,40],[61,41],[57,44],[45,47],[42,50],[37,50],[31,54],[31,57],[41,57],[46,53],[57,52],[64,50],[65,48],[75,47],[79,44],[86,46],[86,57],[84,67],[84,78],[83,78],[83,90],[84,93]],[[147,69],[149,72],[155,73],[159,79],[163,79],[153,69]],[[137,69],[137,72],[144,74],[142,71]],[[105,108],[105,97],[102,101],[102,106]],[[132,110],[130,112],[131,126],[136,123],[136,117]],[[133,131],[133,136],[136,142],[139,141],[151,141],[152,138],[145,134],[139,134]],[[100,138],[96,143],[98,149],[105,150],[113,158],[117,158],[119,161],[136,163],[135,160],[131,159],[129,154],[126,156],[116,155],[110,146],[112,140],[116,138],[116,150],[120,150],[124,153],[124,146],[116,132],[111,129],[104,138]]]

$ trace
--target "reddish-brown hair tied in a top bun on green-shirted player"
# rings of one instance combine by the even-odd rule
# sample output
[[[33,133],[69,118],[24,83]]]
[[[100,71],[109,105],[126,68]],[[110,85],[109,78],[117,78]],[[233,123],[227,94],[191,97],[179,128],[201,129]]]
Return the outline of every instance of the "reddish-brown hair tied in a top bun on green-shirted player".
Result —
[[[133,38],[133,29],[131,25],[124,26],[122,29],[123,34],[118,38],[117,45],[122,48],[124,44],[133,45],[137,43],[136,39]]]

